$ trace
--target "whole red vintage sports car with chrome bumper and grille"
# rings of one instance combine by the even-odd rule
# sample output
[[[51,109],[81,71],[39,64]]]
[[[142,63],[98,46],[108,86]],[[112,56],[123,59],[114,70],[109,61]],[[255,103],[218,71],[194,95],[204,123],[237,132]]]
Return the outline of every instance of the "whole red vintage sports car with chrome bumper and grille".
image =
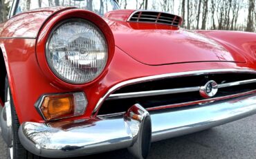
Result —
[[[255,114],[256,34],[181,23],[114,0],[15,0],[0,24],[8,157],[147,158],[151,142]]]

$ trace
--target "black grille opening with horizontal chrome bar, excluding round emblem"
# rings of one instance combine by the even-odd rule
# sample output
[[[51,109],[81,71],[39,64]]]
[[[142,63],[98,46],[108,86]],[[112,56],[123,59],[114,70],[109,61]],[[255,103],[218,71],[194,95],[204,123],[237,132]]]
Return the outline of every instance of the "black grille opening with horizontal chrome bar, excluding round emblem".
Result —
[[[148,82],[131,84],[114,91],[102,103],[98,115],[125,112],[130,106],[140,104],[145,109],[204,101],[199,93],[200,86],[214,80],[219,86],[219,97],[231,97],[241,93],[256,90],[256,74],[253,73],[225,73],[210,75],[193,75],[156,79]]]

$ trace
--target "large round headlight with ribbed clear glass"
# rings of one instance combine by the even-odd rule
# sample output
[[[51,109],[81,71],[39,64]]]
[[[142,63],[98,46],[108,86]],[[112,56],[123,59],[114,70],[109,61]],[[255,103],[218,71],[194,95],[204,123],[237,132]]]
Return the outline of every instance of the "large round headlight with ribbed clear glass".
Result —
[[[85,84],[104,70],[108,59],[107,41],[90,21],[70,19],[53,28],[46,43],[46,59],[60,79]]]

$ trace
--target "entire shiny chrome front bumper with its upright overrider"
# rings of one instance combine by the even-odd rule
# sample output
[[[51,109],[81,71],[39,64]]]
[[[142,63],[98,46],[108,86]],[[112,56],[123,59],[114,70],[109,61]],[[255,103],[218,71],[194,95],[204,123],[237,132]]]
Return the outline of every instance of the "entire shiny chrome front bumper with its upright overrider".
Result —
[[[147,153],[141,151],[147,150],[143,145],[149,146],[145,141],[151,136],[155,142],[255,114],[256,94],[149,113],[136,104],[125,115],[49,124],[24,122],[19,138],[28,151],[44,157],[86,156],[129,148],[140,158]]]

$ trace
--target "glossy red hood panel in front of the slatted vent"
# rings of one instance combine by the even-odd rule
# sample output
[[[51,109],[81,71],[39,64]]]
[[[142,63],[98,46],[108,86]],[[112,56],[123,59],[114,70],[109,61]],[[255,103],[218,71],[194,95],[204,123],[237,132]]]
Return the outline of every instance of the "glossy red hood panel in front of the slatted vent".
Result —
[[[184,62],[246,62],[236,50],[198,32],[159,24],[127,22],[131,11],[115,11],[107,14],[115,37],[116,46],[148,65],[163,65]],[[116,20],[118,19],[118,20]]]

